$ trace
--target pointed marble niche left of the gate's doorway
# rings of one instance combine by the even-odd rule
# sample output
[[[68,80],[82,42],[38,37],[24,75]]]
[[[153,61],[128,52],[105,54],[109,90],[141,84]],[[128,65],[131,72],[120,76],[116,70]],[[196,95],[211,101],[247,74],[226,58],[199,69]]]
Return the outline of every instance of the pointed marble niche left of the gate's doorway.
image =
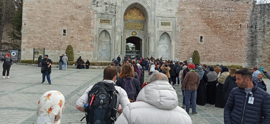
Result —
[[[99,60],[110,60],[111,56],[111,37],[108,31],[103,30],[99,34],[99,38],[97,41],[98,48],[98,59]]]

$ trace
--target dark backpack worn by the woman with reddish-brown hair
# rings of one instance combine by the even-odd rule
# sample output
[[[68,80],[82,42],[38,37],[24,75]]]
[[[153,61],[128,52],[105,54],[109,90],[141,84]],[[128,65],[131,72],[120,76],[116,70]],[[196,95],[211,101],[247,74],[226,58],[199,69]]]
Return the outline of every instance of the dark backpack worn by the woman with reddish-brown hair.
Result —
[[[122,88],[127,92],[127,97],[129,98],[130,103],[135,102],[137,90],[134,84],[134,78],[133,77],[124,78]]]

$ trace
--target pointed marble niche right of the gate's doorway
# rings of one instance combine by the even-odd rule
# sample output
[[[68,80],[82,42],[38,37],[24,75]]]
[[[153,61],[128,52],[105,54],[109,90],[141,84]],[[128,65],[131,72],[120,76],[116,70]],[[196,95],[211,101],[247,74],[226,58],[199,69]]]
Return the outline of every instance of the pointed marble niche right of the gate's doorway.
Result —
[[[158,44],[159,54],[158,57],[162,57],[163,60],[170,59],[171,54],[171,37],[167,32],[160,35]]]

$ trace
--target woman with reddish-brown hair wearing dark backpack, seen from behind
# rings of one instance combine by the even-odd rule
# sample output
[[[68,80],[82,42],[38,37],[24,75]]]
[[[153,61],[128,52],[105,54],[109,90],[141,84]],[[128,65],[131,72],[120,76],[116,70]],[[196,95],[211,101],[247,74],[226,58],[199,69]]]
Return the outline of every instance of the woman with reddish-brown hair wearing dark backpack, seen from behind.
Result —
[[[127,97],[131,103],[135,102],[141,90],[140,80],[134,78],[134,69],[130,64],[123,64],[121,67],[120,79],[116,81],[116,85],[127,92]]]

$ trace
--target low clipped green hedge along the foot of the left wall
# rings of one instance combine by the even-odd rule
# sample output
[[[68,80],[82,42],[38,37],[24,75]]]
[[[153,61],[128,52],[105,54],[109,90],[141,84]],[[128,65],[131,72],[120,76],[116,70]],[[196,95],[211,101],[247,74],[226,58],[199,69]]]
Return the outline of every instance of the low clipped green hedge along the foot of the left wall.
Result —
[[[21,63],[28,63],[28,64],[38,64],[38,60],[21,60]],[[59,65],[59,62],[52,62],[53,65]],[[75,64],[76,65],[76,62],[75,61],[68,61],[68,65],[73,65]],[[110,65],[111,63],[110,62],[90,62],[90,65],[92,66],[107,66],[107,65]]]

